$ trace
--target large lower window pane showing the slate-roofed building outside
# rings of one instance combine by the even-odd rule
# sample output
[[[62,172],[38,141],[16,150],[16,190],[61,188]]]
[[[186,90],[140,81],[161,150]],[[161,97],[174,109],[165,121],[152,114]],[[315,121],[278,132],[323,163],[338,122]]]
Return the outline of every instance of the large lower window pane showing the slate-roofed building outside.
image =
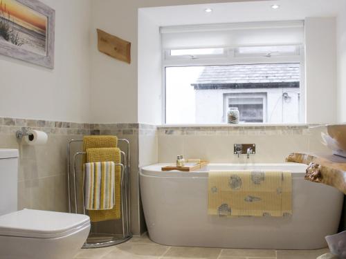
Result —
[[[298,63],[165,68],[166,124],[223,124],[237,107],[242,123],[299,123]]]

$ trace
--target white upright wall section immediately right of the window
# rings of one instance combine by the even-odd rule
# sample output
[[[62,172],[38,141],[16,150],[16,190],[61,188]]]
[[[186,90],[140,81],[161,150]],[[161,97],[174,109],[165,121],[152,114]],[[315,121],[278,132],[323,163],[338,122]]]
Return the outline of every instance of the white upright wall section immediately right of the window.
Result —
[[[305,19],[308,123],[336,122],[336,19]]]

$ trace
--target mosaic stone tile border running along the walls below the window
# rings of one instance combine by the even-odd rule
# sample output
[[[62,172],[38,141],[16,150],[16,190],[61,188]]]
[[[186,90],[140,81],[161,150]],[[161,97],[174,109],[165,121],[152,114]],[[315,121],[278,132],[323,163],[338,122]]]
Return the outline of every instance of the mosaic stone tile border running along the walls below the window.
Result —
[[[19,128],[27,127],[56,135],[309,135],[311,126],[318,124],[155,126],[138,123],[88,124],[0,117],[0,134],[12,134]]]

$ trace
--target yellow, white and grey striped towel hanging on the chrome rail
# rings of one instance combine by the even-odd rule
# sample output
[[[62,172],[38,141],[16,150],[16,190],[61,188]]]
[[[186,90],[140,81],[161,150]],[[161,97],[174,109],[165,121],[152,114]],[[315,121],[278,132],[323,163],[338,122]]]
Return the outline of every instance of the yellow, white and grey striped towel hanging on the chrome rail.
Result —
[[[115,205],[116,166],[114,162],[84,164],[85,209],[106,210]]]

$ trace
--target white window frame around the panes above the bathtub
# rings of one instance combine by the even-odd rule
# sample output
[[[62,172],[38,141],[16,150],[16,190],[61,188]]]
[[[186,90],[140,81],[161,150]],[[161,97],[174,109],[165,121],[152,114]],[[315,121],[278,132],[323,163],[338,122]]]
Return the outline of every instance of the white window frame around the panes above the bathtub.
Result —
[[[183,67],[183,66],[222,66],[222,65],[248,65],[248,64],[278,64],[278,63],[297,63],[300,64],[300,122],[304,124],[307,122],[306,116],[306,85],[305,85],[305,62],[304,62],[304,46],[297,44],[281,44],[282,46],[297,46],[298,51],[296,55],[273,55],[271,57],[259,55],[236,55],[236,50],[239,47],[246,46],[231,46],[224,47],[224,53],[221,55],[200,55],[199,57],[189,57],[189,55],[170,55],[170,50],[162,50],[162,121],[164,125],[167,124],[166,120],[166,77],[165,70],[170,67]],[[251,45],[254,46],[254,45]],[[258,45],[260,46],[260,45]],[[280,46],[280,44],[265,45],[265,46]],[[220,46],[196,47],[196,48],[221,48]],[[184,48],[187,49],[187,48]],[[248,122],[250,124],[250,122]],[[262,122],[261,124],[267,124]],[[193,125],[193,124],[192,124]]]

